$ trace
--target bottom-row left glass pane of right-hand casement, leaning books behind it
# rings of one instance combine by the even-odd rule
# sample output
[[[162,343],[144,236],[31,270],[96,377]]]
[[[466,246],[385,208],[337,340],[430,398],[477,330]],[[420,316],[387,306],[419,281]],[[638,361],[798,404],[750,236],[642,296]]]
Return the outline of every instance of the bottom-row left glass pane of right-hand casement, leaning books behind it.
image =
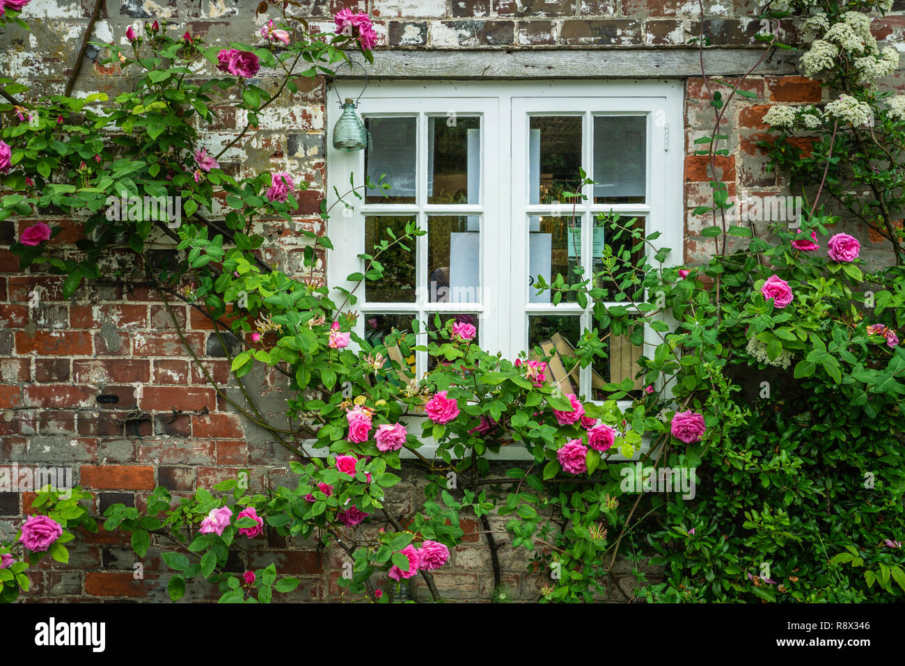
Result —
[[[556,384],[563,395],[578,395],[581,366],[575,346],[581,338],[581,319],[577,315],[529,315],[529,357],[548,361],[548,383]],[[539,349],[537,348],[539,347]]]

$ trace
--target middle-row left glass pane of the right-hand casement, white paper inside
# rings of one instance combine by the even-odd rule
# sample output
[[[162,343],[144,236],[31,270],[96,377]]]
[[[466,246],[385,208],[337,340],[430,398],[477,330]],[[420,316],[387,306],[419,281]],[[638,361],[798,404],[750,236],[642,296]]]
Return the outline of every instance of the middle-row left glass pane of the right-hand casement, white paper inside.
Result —
[[[538,294],[534,286],[538,275],[549,284],[558,274],[567,284],[578,281],[581,275],[581,216],[555,217],[553,215],[529,215],[529,303],[553,302],[550,290]],[[575,300],[575,294],[567,292],[563,301]]]

